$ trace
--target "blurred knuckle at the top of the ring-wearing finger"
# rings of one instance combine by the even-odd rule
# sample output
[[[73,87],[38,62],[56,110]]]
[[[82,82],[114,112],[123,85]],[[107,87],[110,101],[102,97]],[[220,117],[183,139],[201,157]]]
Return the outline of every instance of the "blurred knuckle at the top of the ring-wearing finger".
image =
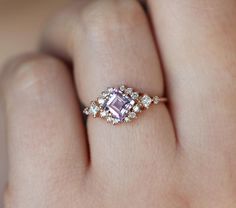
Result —
[[[84,7],[78,19],[86,34],[92,35],[95,41],[111,39],[146,24],[142,7],[134,0],[93,1]]]

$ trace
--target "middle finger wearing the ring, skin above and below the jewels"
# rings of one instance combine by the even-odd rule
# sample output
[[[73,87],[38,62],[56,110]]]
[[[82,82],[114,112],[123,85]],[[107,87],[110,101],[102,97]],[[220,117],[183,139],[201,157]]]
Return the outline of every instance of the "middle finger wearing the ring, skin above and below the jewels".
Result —
[[[54,53],[61,50],[73,59],[77,90],[86,105],[106,87],[121,83],[151,95],[164,94],[155,44],[136,1],[81,1],[53,21],[45,42]],[[89,119],[88,135],[92,163],[102,169],[117,169],[122,163],[124,171],[137,161],[159,166],[173,159],[175,137],[164,104],[130,124],[114,127]]]

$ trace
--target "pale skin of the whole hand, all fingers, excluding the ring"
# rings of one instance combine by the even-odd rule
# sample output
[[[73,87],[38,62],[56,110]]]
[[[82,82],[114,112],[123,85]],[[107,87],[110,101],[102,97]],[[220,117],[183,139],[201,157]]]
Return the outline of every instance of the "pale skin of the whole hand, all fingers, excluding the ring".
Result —
[[[236,2],[147,5],[80,0],[5,65],[6,208],[236,206]],[[121,82],[169,102],[85,126],[79,103]]]

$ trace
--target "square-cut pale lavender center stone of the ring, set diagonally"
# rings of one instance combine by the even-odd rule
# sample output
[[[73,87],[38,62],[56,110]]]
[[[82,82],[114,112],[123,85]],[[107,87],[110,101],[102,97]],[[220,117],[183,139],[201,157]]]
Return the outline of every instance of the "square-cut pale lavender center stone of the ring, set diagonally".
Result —
[[[106,108],[109,109],[113,118],[123,121],[133,105],[134,101],[131,98],[123,95],[122,92],[115,90],[111,94],[106,104]]]

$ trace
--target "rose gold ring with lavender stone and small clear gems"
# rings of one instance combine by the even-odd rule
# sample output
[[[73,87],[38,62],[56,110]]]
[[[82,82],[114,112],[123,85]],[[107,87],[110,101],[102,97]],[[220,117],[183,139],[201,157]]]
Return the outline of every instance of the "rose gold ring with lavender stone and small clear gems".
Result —
[[[134,91],[130,87],[109,87],[101,95],[90,103],[83,111],[87,116],[106,119],[113,125],[126,123],[137,118],[137,115],[148,109],[152,104],[166,102],[167,98],[149,96]]]

